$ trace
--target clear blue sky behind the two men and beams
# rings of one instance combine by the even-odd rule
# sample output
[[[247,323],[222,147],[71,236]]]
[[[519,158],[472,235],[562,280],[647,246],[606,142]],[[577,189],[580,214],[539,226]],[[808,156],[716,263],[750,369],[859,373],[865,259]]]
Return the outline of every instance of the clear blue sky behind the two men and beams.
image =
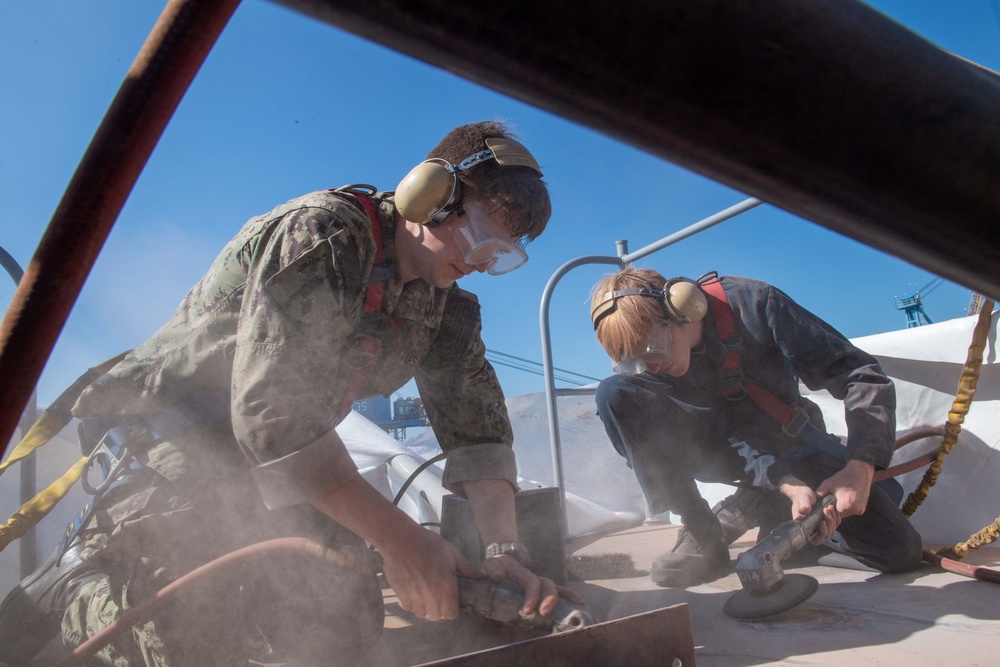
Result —
[[[997,0],[871,2],[939,46],[1000,70]],[[161,5],[134,0],[0,3],[0,246],[30,260],[77,163]],[[859,103],[861,103],[859,101]],[[583,255],[637,250],[746,195],[592,130],[264,0],[244,0],[168,126],[97,261],[39,383],[51,401],[88,366],[135,346],[173,311],[248,218],[305,192],[391,189],[451,127],[509,121],[546,172],[554,216],[507,276],[471,276],[487,347],[541,360],[539,303],[553,272]],[[666,275],[710,270],[772,282],[849,337],[906,326],[896,299],[935,276],[762,206],[642,262]],[[603,377],[587,314],[610,267],[555,290],[555,365]],[[13,283],[0,278],[0,303]],[[944,283],[924,307],[965,315]],[[540,376],[497,367],[510,396]],[[412,393],[412,387],[404,389]]]

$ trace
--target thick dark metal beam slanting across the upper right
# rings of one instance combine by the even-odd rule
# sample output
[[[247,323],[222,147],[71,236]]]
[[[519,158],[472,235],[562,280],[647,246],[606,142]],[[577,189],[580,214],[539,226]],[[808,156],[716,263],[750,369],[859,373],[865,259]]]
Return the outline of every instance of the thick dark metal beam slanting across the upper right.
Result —
[[[861,2],[278,1],[1000,297],[1000,81]]]

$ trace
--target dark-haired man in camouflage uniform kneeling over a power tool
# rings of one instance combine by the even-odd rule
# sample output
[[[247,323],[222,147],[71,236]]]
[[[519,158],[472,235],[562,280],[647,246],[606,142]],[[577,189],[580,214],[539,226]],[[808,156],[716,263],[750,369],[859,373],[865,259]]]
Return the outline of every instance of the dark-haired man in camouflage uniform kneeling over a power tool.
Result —
[[[557,587],[514,557],[513,436],[478,301],[455,285],[473,271],[516,268],[550,216],[537,163],[516,142],[517,159],[493,159],[498,139],[512,142],[503,124],[477,123],[431,151],[462,195],[430,224],[401,215],[393,192],[354,188],[305,195],[243,227],[170,320],[75,406],[85,451],[126,424],[138,427],[131,451],[141,465],[99,498],[59,566],[42,573],[48,606],[25,589],[45,607],[32,614],[51,620],[66,609],[72,647],[201,564],[306,536],[369,542],[404,609],[455,618],[456,575],[483,573],[368,485],[334,430],[354,400],[410,378],[448,453],[444,485],[469,499],[485,544],[512,545],[494,549],[485,574],[523,586],[525,612],[551,613]],[[25,591],[15,593],[0,637],[23,612]],[[98,658],[354,663],[381,627],[373,576],[287,554],[210,578]]]

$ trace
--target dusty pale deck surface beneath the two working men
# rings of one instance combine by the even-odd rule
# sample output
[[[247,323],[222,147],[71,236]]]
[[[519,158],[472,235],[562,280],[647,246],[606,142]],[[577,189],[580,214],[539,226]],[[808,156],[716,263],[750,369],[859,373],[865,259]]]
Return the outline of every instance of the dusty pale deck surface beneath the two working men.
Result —
[[[676,539],[676,525],[642,526],[567,546],[583,574],[570,586],[586,596],[600,620],[680,603],[689,605],[695,655],[701,667],[748,665],[996,665],[1000,647],[1000,585],[931,565],[909,574],[786,564],[808,574],[819,590],[795,609],[770,619],[737,621],[723,611],[740,590],[736,575],[689,589],[660,588],[649,564]],[[754,544],[752,533],[731,549],[733,559]],[[1000,567],[1000,549],[973,552],[963,563]],[[602,573],[602,569],[604,570]],[[538,636],[496,629],[489,622],[415,621],[387,592],[384,648],[388,664],[415,665]]]

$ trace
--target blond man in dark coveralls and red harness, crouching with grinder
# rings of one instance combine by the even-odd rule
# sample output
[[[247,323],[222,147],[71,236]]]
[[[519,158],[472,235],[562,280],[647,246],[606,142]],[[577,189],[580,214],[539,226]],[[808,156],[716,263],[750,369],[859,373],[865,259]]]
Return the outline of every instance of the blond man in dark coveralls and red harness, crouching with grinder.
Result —
[[[650,510],[684,524],[653,562],[654,582],[719,576],[746,530],[766,536],[826,494],[837,502],[814,543],[831,563],[918,566],[920,536],[900,499],[872,484],[892,457],[895,389],[869,354],[776,287],[733,276],[668,281],[629,266],[598,283],[591,316],[617,371],[597,391],[608,436]],[[844,402],[846,446],[826,433],[800,380]],[[696,481],[741,489],[710,508]]]

